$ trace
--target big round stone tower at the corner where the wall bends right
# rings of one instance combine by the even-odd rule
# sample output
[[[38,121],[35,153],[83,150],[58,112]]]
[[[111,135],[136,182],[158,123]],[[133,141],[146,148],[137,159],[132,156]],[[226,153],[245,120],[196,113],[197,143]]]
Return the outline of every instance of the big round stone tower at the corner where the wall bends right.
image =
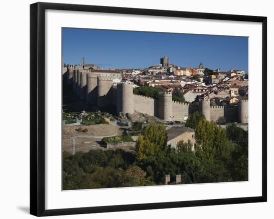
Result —
[[[117,85],[117,113],[134,113],[133,83]]]

